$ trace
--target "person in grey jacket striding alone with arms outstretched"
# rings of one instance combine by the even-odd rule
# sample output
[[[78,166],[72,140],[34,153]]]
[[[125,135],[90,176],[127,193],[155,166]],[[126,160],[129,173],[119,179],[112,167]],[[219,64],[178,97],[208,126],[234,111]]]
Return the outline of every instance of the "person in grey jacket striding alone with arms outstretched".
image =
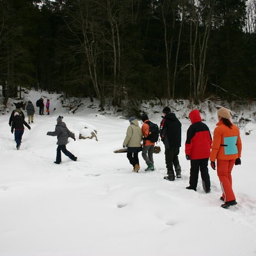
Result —
[[[77,157],[74,156],[72,153],[70,153],[66,145],[68,143],[68,138],[72,138],[74,141],[76,141],[75,134],[70,132],[67,128],[67,125],[62,122],[63,116],[58,116],[57,118],[57,124],[55,127],[54,132],[47,132],[47,135],[49,136],[57,136],[57,154],[56,154],[56,161],[54,163],[60,164],[61,163],[61,151],[63,154],[68,156],[71,160],[77,161]]]

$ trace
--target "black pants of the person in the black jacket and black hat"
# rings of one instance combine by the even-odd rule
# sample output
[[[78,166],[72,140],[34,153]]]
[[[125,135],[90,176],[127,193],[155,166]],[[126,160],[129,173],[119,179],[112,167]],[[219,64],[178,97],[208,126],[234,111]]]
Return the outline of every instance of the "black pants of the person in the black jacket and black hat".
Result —
[[[174,176],[173,172],[173,166],[175,169],[175,172],[180,172],[180,163],[179,163],[179,153],[180,148],[166,148],[165,149],[165,164],[167,168],[167,174],[170,177]]]

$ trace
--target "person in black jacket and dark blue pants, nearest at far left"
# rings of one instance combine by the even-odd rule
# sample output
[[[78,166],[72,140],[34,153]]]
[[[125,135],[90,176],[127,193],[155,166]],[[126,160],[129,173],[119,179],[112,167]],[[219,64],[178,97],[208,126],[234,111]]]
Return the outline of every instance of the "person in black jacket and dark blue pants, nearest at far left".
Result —
[[[20,114],[18,112],[15,112],[14,116],[13,116],[13,120],[12,120],[11,132],[13,133],[13,131],[14,131],[14,139],[16,142],[17,150],[20,149],[20,143],[22,140],[22,135],[24,133],[24,125],[26,125],[26,127],[28,127],[29,130],[31,129],[31,127],[22,118],[22,116],[20,116]]]

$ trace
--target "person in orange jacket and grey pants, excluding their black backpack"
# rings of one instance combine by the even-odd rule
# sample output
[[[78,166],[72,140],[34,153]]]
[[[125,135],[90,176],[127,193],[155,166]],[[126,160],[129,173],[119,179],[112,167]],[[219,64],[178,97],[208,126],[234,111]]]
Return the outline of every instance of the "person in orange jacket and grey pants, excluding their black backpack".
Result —
[[[150,140],[147,140],[147,137],[149,134],[149,125],[147,124],[147,122],[149,122],[150,120],[148,119],[148,116],[146,114],[141,116],[141,120],[143,122],[143,125],[141,127],[141,131],[143,134],[143,148],[142,148],[141,156],[143,157],[143,159],[145,160],[148,166],[145,169],[145,171],[154,171],[155,169],[154,169],[153,153],[154,153],[155,143]]]

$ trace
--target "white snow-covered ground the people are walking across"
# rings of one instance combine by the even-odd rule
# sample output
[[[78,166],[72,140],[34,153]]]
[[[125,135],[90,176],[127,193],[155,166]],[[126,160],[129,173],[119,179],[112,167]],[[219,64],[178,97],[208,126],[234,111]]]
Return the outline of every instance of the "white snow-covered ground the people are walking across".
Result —
[[[126,154],[113,153],[122,148],[128,120],[100,115],[90,102],[74,115],[68,114],[61,107],[60,95],[45,92],[31,92],[25,100],[35,105],[41,96],[45,102],[51,100],[51,115],[40,116],[36,108],[35,123],[31,131],[25,128],[20,150],[8,125],[10,113],[0,116],[1,256],[256,255],[253,122],[246,125],[249,136],[241,129],[242,164],[232,172],[238,204],[222,209],[219,180],[211,167],[211,193],[204,193],[200,178],[197,192],[185,189],[189,161],[184,143],[190,123],[184,116],[191,109],[175,111],[182,123],[182,179],[170,182],[163,179],[161,143],[160,154],[154,154],[154,172],[144,172],[141,155],[141,170],[133,173]],[[145,110],[159,124],[163,107],[156,108],[159,113]],[[77,140],[70,140],[67,148],[78,157],[77,162],[63,156],[60,165],[53,163],[56,137],[46,133],[54,131],[58,115],[76,134]],[[205,110],[203,117],[213,131],[216,112]],[[79,140],[79,131],[86,125],[95,127],[98,141]]]

